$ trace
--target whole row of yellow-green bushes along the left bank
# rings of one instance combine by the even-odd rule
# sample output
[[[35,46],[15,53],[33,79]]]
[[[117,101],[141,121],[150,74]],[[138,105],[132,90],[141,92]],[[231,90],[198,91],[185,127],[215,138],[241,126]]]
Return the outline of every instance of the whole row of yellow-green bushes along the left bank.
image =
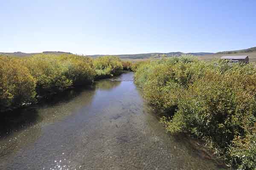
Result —
[[[73,54],[0,56],[0,111],[36,102],[38,95],[92,84],[96,78],[117,75],[122,69],[120,59],[111,56],[96,59]]]

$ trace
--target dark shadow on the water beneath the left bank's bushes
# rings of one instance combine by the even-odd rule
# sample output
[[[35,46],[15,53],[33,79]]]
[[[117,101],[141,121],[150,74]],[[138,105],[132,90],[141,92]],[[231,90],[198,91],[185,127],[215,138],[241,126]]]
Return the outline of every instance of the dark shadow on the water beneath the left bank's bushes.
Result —
[[[90,85],[69,89],[58,94],[47,96],[47,98],[41,99],[36,105],[1,113],[0,139],[11,135],[13,132],[26,129],[27,127],[41,122],[42,116],[38,114],[38,108],[55,107],[60,103],[68,103],[84,91],[95,91],[95,86]]]

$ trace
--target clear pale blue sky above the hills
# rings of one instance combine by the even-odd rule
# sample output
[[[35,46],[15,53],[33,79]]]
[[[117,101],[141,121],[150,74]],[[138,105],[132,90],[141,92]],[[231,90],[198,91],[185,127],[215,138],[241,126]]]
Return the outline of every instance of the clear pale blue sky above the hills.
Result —
[[[256,46],[256,0],[2,0],[0,51],[217,52]]]

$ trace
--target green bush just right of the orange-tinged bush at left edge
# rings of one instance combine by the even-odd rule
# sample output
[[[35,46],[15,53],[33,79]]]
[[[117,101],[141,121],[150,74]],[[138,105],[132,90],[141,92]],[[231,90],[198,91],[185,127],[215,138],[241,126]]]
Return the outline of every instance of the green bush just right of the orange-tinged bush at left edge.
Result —
[[[67,77],[69,64],[58,56],[40,54],[28,57],[24,64],[37,81],[36,90],[40,95],[64,91],[73,81]]]

